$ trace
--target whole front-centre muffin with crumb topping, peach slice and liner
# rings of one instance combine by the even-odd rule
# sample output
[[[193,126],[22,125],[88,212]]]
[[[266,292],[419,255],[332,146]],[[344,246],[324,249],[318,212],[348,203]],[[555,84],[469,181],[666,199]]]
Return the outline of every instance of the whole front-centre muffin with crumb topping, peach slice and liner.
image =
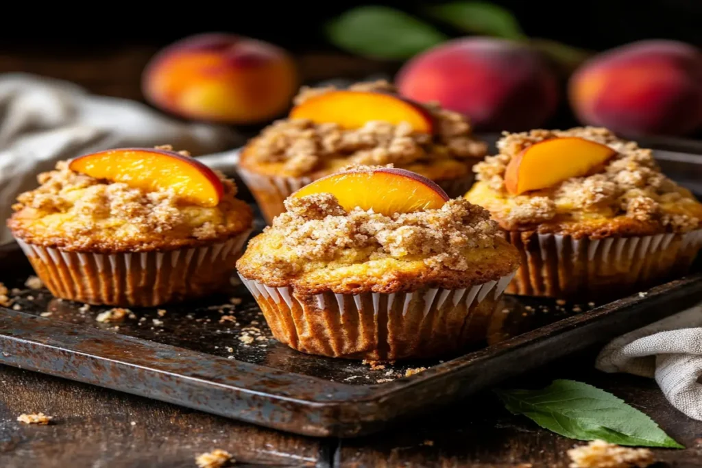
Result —
[[[237,269],[274,337],[301,352],[456,352],[484,340],[519,265],[486,210],[402,169],[351,168],[285,206]]]

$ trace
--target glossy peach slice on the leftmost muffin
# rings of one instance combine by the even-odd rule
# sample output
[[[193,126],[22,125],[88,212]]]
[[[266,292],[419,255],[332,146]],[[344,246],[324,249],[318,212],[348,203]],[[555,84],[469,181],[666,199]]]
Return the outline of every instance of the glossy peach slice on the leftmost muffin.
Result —
[[[78,156],[68,167],[137,189],[171,188],[185,201],[199,206],[217,206],[224,192],[222,181],[210,168],[197,159],[164,149],[108,149]]]

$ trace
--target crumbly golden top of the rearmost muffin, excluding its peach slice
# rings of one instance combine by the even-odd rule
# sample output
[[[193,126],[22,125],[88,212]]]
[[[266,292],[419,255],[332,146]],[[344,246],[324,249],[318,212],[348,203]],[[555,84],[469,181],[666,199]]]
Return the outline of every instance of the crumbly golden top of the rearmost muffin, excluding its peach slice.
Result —
[[[357,83],[349,91],[369,91],[397,96],[387,81]],[[302,88],[295,104],[336,88]],[[360,128],[309,119],[274,122],[244,149],[241,163],[268,175],[319,177],[350,163],[409,169],[434,180],[460,178],[470,173],[486,145],[472,136],[465,116],[438,105],[418,105],[433,121],[434,134],[413,130],[408,122],[367,121]]]

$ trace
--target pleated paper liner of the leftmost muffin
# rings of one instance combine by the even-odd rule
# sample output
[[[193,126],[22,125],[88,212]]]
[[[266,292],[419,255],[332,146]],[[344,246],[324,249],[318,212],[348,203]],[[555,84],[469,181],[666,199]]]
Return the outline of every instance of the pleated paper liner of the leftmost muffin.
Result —
[[[66,252],[16,240],[56,297],[94,305],[154,307],[227,285],[249,234],[195,248],[112,254]]]

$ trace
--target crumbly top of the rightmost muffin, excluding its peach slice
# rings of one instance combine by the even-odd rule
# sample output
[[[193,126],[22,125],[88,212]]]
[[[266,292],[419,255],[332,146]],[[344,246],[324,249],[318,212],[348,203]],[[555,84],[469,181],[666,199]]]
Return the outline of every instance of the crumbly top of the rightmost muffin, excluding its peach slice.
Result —
[[[533,130],[505,132],[503,135],[497,144],[499,154],[486,157],[484,162],[475,165],[474,170],[477,180],[508,199],[509,203],[503,203],[501,210],[494,213],[508,228],[555,220],[574,213],[583,216],[588,213],[625,216],[643,223],[658,223],[673,232],[688,232],[702,224],[702,214],[691,215],[680,210],[681,203],[684,206],[699,206],[699,203],[689,190],[661,173],[651,149],[621,140],[606,128]],[[615,149],[617,154],[591,175],[571,178],[529,194],[508,194],[504,175],[512,157],[537,142],[562,137],[580,137],[599,142]],[[492,206],[489,208],[493,211]],[[702,208],[694,212],[702,213]]]

